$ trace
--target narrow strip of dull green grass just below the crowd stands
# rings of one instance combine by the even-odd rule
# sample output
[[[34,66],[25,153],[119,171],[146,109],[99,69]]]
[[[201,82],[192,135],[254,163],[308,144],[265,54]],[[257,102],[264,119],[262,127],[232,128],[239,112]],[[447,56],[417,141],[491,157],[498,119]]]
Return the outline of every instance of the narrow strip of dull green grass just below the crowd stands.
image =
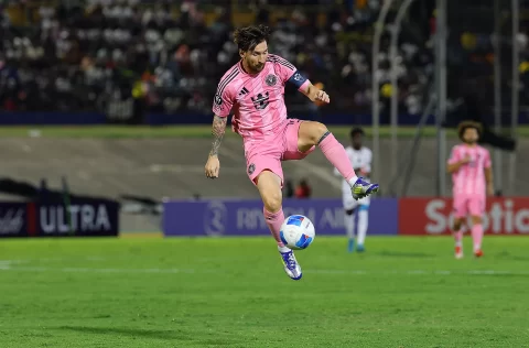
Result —
[[[330,129],[339,138],[345,138],[350,131],[349,126],[330,126]],[[366,128],[370,135],[371,129]],[[380,127],[380,137],[390,137],[390,128]],[[415,133],[414,127],[399,127],[399,138],[411,138]],[[210,126],[171,126],[171,127],[145,127],[145,126],[13,126],[0,128],[2,138],[24,138],[24,137],[46,137],[46,138],[209,138],[212,134]],[[231,130],[227,132],[228,137],[238,137]],[[427,127],[423,131],[424,137],[435,137],[434,127]],[[518,128],[519,137],[529,137],[529,127]],[[455,137],[453,130],[447,131],[449,137]]]

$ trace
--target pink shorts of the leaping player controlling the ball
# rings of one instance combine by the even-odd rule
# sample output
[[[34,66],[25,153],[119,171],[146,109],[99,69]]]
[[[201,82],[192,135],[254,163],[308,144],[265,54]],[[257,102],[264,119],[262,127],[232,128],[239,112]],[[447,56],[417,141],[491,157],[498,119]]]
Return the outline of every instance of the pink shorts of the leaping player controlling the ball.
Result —
[[[245,146],[246,173],[255,185],[256,177],[262,171],[269,170],[281,177],[282,187],[284,180],[281,161],[302,160],[314,151],[315,146],[306,152],[298,150],[298,131],[301,122],[303,121],[298,119],[287,119],[276,138]]]

